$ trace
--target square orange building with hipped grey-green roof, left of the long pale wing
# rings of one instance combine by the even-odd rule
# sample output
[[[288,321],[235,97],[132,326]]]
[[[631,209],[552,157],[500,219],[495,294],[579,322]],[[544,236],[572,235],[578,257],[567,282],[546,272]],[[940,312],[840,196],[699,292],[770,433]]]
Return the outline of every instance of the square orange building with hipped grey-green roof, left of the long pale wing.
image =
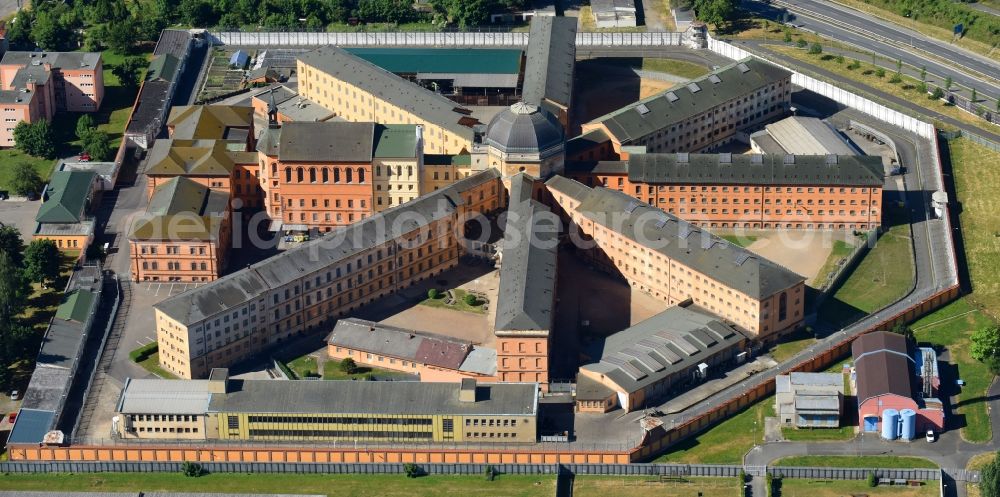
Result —
[[[145,214],[132,224],[132,279],[212,281],[226,268],[231,240],[229,195],[173,178],[156,187]]]

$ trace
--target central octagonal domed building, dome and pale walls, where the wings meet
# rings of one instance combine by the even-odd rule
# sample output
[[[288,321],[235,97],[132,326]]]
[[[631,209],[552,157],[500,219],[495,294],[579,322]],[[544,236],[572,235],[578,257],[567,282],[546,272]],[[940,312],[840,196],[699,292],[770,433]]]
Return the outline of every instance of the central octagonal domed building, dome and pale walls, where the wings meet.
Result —
[[[566,139],[551,112],[524,102],[490,121],[483,139],[490,167],[505,177],[525,172],[545,179],[563,171]]]

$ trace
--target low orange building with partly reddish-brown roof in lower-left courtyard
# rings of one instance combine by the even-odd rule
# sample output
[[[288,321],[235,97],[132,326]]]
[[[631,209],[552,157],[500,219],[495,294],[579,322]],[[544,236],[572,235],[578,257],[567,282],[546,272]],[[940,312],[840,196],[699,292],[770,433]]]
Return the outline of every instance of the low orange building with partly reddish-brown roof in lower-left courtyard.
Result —
[[[326,351],[331,360],[350,358],[357,364],[416,375],[420,381],[491,381],[497,371],[496,349],[358,318],[337,321],[326,339]]]

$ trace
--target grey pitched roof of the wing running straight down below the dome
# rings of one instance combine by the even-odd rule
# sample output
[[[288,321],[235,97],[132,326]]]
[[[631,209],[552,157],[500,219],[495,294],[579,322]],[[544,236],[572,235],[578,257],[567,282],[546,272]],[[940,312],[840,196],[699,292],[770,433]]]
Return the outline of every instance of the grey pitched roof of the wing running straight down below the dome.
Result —
[[[552,221],[557,218],[542,219],[550,211],[531,199],[532,183],[524,173],[511,179],[494,326],[497,334],[552,329],[558,243],[558,226]]]

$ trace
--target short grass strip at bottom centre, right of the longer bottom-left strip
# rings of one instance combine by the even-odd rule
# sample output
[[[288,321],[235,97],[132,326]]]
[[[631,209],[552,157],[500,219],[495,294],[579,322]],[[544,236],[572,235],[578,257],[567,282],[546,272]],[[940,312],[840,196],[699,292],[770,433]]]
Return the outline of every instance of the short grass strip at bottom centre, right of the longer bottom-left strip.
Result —
[[[685,478],[683,481],[660,483],[652,477],[577,476],[573,482],[574,497],[607,497],[608,495],[655,495],[657,497],[738,497],[736,478]]]

